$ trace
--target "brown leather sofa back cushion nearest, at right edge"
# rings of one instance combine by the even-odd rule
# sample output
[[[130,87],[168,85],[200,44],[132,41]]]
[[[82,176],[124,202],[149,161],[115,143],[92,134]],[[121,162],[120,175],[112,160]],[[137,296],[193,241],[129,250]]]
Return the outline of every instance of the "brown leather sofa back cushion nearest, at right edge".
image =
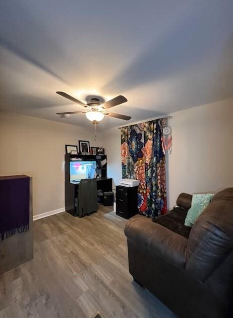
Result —
[[[204,282],[233,249],[233,188],[217,193],[192,227],[186,271]]]

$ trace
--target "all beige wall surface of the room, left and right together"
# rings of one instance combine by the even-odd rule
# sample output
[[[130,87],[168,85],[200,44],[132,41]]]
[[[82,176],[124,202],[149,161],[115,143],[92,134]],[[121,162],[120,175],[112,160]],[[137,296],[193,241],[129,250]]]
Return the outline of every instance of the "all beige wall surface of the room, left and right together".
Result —
[[[186,191],[233,186],[233,99],[172,114],[173,151],[167,156],[168,206]],[[0,175],[33,177],[34,215],[64,207],[64,145],[89,140],[103,145],[114,187],[121,178],[120,130],[93,142],[93,130],[44,119],[0,115]],[[106,138],[108,136],[108,138]]]

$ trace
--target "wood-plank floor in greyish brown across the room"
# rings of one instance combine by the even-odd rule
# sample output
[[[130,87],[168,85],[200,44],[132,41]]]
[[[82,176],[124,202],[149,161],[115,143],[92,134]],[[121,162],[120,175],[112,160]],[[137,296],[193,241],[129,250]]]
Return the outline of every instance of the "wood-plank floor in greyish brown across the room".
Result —
[[[0,276],[0,318],[174,318],[128,272],[126,220],[112,207],[34,222],[34,258]],[[15,251],[17,252],[17,251]]]

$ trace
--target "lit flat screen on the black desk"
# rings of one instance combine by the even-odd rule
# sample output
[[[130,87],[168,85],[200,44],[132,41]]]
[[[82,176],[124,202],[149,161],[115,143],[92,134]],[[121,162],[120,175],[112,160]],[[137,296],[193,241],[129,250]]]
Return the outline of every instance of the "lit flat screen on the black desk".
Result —
[[[70,182],[79,182],[81,179],[94,179],[96,161],[70,161]]]

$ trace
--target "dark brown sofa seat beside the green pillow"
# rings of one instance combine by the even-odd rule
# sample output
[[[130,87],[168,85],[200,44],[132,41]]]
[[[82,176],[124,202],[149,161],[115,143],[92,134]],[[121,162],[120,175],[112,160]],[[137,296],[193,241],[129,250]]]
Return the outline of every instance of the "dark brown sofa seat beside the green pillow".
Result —
[[[153,222],[158,223],[187,239],[191,228],[184,225],[186,214],[187,210],[177,207],[167,214],[154,219]]]

